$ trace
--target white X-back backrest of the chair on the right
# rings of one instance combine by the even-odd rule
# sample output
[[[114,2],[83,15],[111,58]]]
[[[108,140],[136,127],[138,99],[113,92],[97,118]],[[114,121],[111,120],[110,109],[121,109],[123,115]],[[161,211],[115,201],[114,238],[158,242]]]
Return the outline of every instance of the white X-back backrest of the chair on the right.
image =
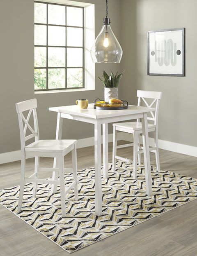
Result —
[[[162,92],[153,92],[153,91],[141,91],[137,90],[138,103],[137,106],[141,106],[142,102],[149,108],[156,108],[153,112],[151,111],[151,117],[147,117],[148,120],[154,122],[154,124],[158,125],[158,113],[159,113],[159,101],[161,99]],[[151,103],[148,103],[146,99],[152,99]],[[139,120],[137,120],[138,122]]]

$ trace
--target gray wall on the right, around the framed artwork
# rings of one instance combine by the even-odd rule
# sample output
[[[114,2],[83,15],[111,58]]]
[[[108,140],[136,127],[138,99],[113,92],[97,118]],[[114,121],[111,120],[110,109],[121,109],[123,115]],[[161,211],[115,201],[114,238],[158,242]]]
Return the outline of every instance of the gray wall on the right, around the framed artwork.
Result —
[[[197,1],[121,0],[121,99],[136,104],[137,89],[163,92],[159,139],[197,146]],[[186,28],[186,76],[147,75],[147,31]]]

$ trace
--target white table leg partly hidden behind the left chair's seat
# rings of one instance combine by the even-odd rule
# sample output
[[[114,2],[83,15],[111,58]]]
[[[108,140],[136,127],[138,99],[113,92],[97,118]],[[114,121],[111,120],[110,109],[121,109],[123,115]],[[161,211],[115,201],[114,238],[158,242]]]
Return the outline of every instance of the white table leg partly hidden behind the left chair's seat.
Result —
[[[56,140],[62,139],[62,125],[63,125],[63,118],[61,117],[61,113],[57,113],[57,127],[56,127],[56,135],[55,135]],[[58,166],[58,162],[57,162],[57,158],[55,157],[53,161],[53,168],[56,168],[57,166]],[[57,181],[57,178],[58,178],[58,172],[53,171],[53,180]],[[57,192],[56,184],[52,184],[51,192],[52,193]]]

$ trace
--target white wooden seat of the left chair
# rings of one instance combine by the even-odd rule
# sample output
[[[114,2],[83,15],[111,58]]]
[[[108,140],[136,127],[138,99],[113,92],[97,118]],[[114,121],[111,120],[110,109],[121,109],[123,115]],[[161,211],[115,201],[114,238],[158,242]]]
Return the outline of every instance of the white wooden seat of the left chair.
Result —
[[[76,140],[39,140],[26,146],[25,151],[63,153],[76,142]]]

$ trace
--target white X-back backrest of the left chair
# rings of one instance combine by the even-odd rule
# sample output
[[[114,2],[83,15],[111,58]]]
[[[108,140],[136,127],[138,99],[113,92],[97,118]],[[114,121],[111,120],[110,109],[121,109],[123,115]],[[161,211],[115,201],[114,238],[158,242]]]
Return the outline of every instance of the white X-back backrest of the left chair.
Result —
[[[25,141],[35,138],[35,141],[39,140],[38,118],[37,118],[37,99],[30,99],[28,101],[21,101],[16,103],[16,112],[18,113],[18,122],[21,137],[21,150],[25,150]],[[23,112],[29,110],[27,118],[24,117]],[[34,129],[30,126],[30,116],[33,114]],[[31,134],[26,136],[27,128]]]

